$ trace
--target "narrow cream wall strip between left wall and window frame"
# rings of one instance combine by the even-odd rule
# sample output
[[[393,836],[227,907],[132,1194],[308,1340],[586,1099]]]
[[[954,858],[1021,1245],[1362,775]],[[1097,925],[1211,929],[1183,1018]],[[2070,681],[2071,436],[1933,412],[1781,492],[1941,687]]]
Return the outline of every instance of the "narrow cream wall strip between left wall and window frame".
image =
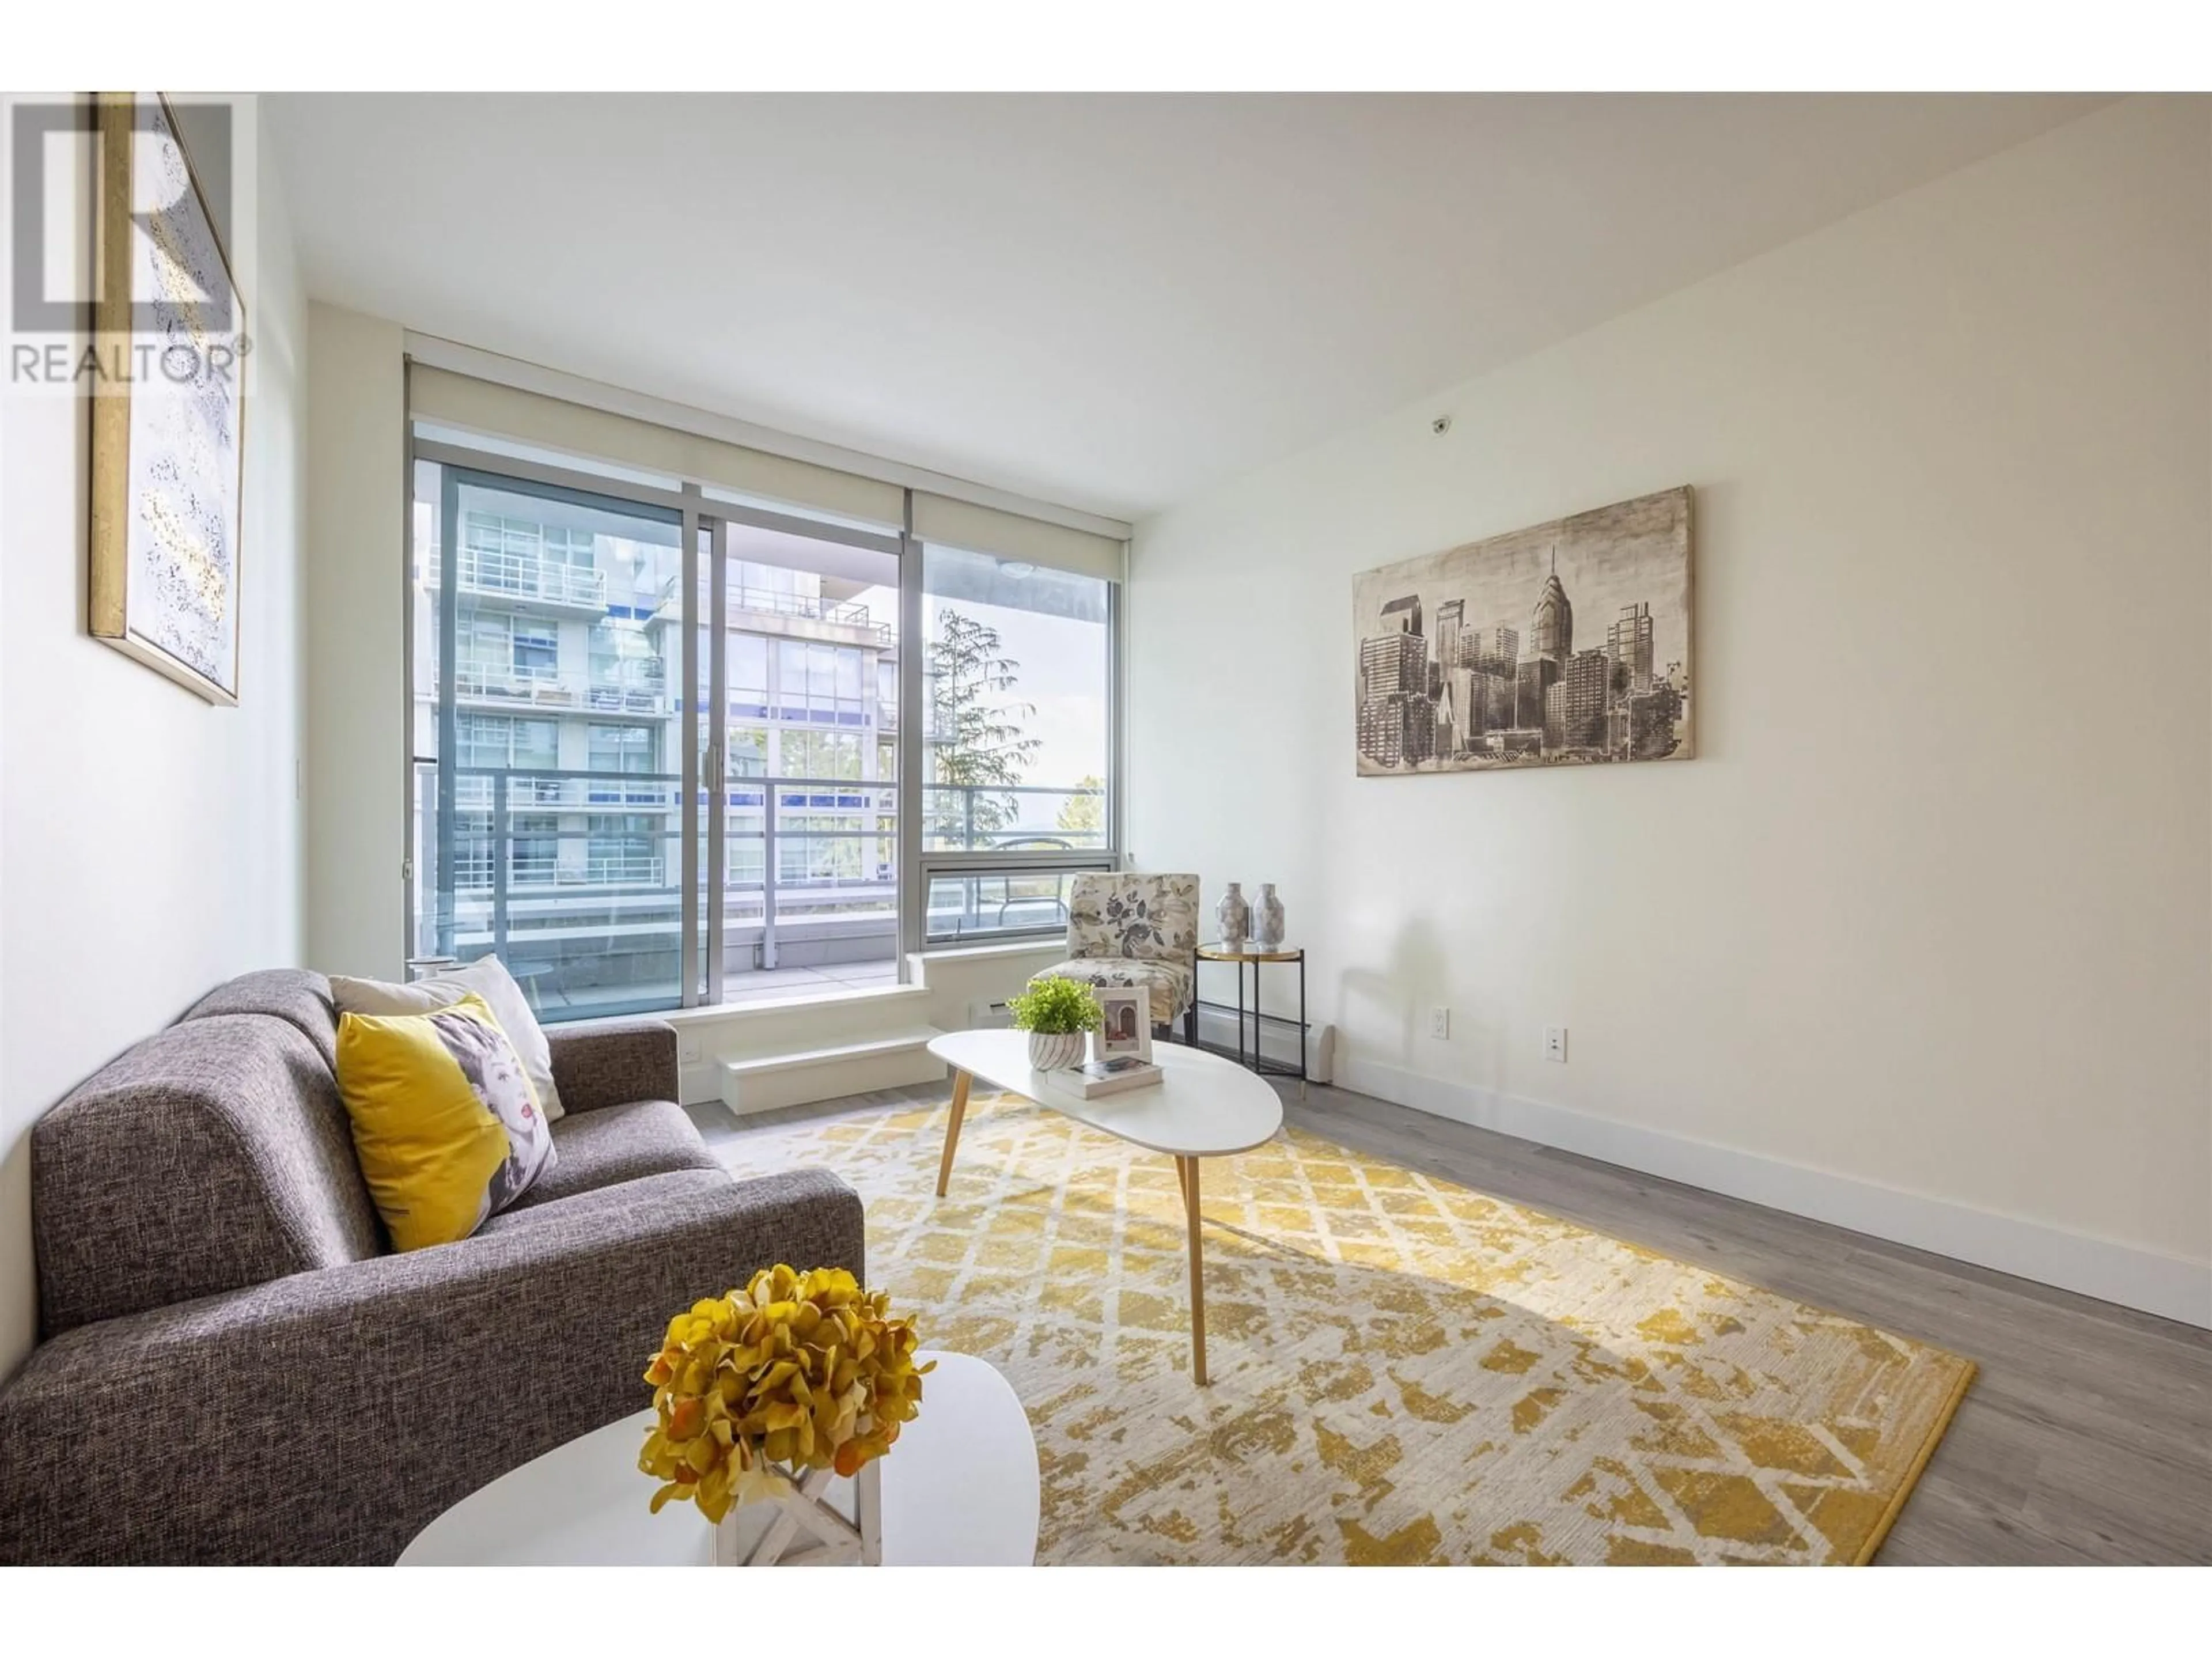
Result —
[[[407,374],[398,323],[314,303],[307,389],[307,960],[403,978]]]

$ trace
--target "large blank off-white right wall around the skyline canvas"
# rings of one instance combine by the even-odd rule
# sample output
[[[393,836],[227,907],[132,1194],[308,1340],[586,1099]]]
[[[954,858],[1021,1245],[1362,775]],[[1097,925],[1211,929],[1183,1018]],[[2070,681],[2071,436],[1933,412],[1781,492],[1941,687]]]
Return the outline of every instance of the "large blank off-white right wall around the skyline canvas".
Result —
[[[1354,776],[1354,571],[1672,484],[1699,759]],[[2212,1318],[2212,102],[1164,513],[1128,608],[1133,852],[1281,885],[1349,1086]]]

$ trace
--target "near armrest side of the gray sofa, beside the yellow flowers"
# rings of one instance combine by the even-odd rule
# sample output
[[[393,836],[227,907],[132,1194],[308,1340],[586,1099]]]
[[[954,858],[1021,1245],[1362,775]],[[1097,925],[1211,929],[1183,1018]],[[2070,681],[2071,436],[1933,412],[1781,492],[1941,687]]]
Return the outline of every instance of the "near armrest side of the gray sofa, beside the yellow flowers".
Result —
[[[650,1405],[668,1316],[776,1261],[863,1274],[852,1188],[655,1175],[80,1325],[0,1389],[0,1562],[392,1562],[495,1475]]]

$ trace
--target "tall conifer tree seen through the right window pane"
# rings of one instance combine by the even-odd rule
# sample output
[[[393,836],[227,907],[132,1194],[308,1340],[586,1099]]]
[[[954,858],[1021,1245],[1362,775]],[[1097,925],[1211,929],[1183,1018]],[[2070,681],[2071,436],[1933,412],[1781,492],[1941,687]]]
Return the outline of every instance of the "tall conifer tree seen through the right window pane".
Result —
[[[1035,703],[1004,701],[1020,672],[1022,664],[1000,650],[998,628],[942,613],[929,641],[929,743],[936,781],[947,785],[929,812],[940,845],[982,843],[1022,816],[1013,787],[1042,739],[1022,728]]]

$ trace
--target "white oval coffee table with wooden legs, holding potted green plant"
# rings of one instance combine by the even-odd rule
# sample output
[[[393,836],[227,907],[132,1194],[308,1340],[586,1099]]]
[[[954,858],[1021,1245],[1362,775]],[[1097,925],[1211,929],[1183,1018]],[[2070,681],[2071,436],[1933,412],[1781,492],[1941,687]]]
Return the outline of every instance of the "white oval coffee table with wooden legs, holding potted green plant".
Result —
[[[945,1159],[938,1164],[940,1199],[951,1183],[953,1150],[960,1146],[960,1119],[967,1117],[973,1077],[1175,1159],[1190,1239],[1190,1376],[1203,1387],[1206,1259],[1199,1250],[1199,1159],[1250,1152],[1272,1141],[1283,1128],[1283,1102],[1274,1088],[1221,1055],[1166,1042],[1152,1046],[1152,1064],[1161,1071],[1157,1084],[1097,1099],[1084,1099],[1073,1088],[1055,1084],[1053,1073],[1035,1071],[1029,1064],[1026,1031],[949,1031],[931,1037],[929,1053],[953,1068],[953,1110],[945,1124]]]

